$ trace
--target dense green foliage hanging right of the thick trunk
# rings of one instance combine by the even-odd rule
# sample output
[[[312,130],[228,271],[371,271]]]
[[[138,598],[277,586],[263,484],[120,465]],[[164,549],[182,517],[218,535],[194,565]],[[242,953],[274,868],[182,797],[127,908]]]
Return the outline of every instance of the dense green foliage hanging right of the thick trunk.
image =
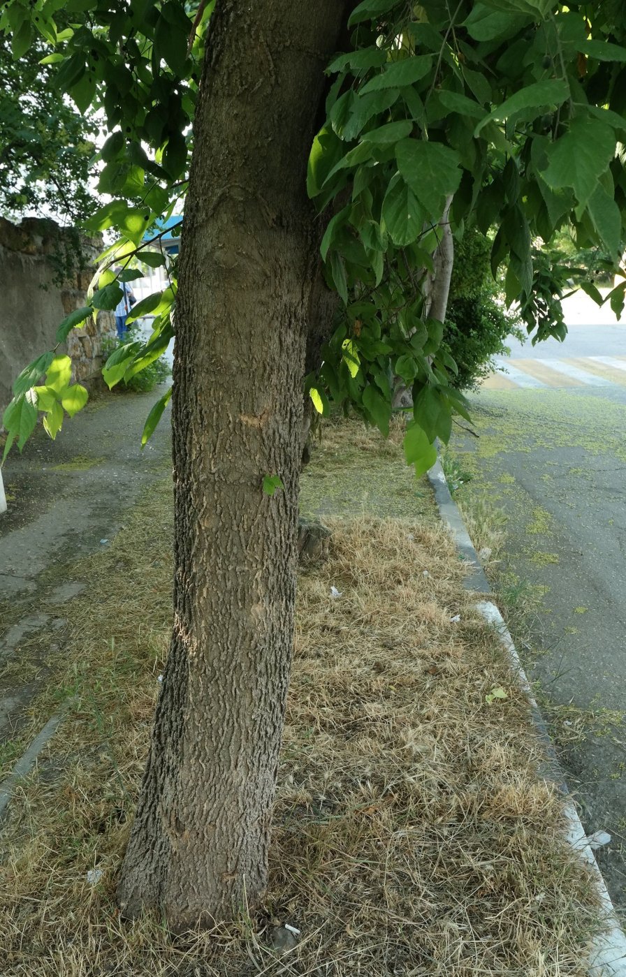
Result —
[[[451,345],[428,319],[447,201],[458,240],[471,229],[491,236],[492,275],[504,269],[507,304],[519,306],[534,341],[565,334],[561,282],[544,257],[556,234],[573,229],[579,247],[602,247],[619,264],[624,13],[550,0],[462,0],[456,8],[364,0],[350,23],[353,50],[329,67],[327,120],[308,173],[321,212],[344,201],[322,244],[344,315],[335,359],[332,343],[309,384],[316,405],[326,391],[384,431],[391,381],[400,377],[430,445],[435,435],[446,440],[450,411],[463,412],[451,395],[460,382]],[[474,321],[501,342],[496,307],[479,314],[474,305]],[[470,321],[455,324],[461,336]],[[384,383],[373,341],[384,348]],[[356,373],[337,359],[345,344],[361,363]],[[409,455],[418,470],[430,457],[426,449]]]

